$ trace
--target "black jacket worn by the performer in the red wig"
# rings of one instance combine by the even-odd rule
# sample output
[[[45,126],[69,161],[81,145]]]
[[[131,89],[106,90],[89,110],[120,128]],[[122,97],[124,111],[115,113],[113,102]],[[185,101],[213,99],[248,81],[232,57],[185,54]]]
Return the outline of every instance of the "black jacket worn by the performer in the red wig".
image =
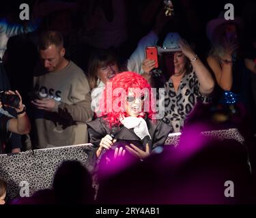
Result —
[[[149,136],[145,136],[143,140],[141,140],[141,138],[134,133],[133,129],[127,129],[124,125],[110,128],[109,124],[106,123],[102,117],[87,122],[90,142],[94,144],[90,161],[96,161],[96,151],[100,147],[100,141],[107,134],[117,140],[117,142],[113,144],[114,148],[115,146],[125,146],[132,143],[139,147],[139,149],[145,151],[145,145],[147,143],[150,145],[150,150],[158,145],[165,144],[165,140],[167,140],[169,133],[171,133],[171,127],[161,120],[154,122],[151,119],[145,119],[145,121],[152,140],[150,140]]]

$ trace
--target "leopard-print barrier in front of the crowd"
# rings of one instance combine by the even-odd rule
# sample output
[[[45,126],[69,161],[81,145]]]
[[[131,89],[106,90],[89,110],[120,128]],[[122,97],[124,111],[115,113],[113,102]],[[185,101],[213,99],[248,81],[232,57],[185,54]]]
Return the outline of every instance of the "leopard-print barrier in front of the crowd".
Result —
[[[204,131],[201,134],[220,140],[234,139],[244,144],[238,129]],[[179,140],[180,133],[169,134],[165,144],[177,146]],[[81,161],[88,170],[92,170],[87,161],[91,147],[92,144],[81,144],[0,155],[0,177],[8,183],[8,198],[20,195],[24,181],[29,184],[29,196],[35,191],[51,187],[55,171],[64,160]],[[98,189],[96,183],[94,188]]]

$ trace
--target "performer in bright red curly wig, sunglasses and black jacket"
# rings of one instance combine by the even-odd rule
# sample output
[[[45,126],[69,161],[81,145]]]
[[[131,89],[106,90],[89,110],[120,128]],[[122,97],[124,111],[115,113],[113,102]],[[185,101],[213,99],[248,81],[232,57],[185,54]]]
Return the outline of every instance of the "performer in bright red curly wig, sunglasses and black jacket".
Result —
[[[171,127],[156,119],[154,104],[145,78],[134,72],[115,75],[100,99],[100,117],[87,123],[94,158],[114,150],[114,157],[130,153],[144,159],[156,146],[165,144]]]

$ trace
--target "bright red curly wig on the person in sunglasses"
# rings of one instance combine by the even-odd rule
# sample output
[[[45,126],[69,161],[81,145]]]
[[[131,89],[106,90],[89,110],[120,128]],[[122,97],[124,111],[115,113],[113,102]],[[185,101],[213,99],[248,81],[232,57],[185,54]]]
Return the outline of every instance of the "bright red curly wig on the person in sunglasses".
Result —
[[[111,87],[111,90],[109,90]],[[124,92],[125,96],[122,96],[121,93],[119,95],[115,95],[116,90],[120,90]],[[154,98],[152,97],[150,84],[148,84],[147,80],[143,78],[143,76],[134,73],[134,72],[122,72],[120,74],[115,75],[109,83],[106,84],[104,88],[104,97],[100,99],[100,108],[101,114],[100,116],[105,116],[105,120],[109,123],[110,126],[119,125],[120,124],[120,117],[128,116],[124,107],[120,107],[121,110],[107,110],[108,104],[111,104],[111,108],[114,108],[114,104],[118,102],[118,99],[122,98],[125,100],[128,96],[128,91],[131,89],[139,89],[141,91],[147,90],[147,110],[146,112],[142,112],[141,116],[147,116],[148,118],[152,119],[152,115],[155,111],[155,102]],[[118,92],[117,92],[118,93]],[[110,103],[111,102],[111,103]],[[120,106],[121,104],[119,104]]]

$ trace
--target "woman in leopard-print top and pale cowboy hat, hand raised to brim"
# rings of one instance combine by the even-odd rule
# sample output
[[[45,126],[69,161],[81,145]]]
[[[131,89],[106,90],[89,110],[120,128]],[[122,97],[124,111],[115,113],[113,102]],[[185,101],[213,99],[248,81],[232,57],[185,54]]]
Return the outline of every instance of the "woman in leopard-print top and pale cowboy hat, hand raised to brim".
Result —
[[[182,130],[186,116],[193,110],[198,101],[208,102],[208,95],[214,89],[214,80],[199,57],[182,40],[178,33],[168,33],[158,48],[165,63],[163,73],[165,82],[165,97],[159,99],[159,104],[165,106],[164,119],[173,127],[173,132]],[[151,77],[154,61],[145,59],[143,71]]]

